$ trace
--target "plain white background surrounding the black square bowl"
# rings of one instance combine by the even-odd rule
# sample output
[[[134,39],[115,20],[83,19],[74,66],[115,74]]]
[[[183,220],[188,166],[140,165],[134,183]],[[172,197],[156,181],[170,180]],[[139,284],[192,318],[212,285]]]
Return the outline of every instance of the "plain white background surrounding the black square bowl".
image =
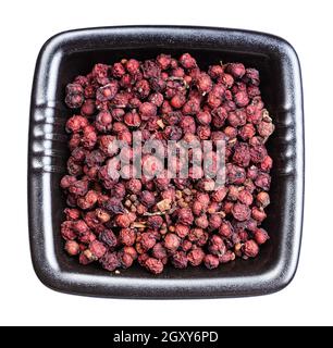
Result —
[[[0,10],[0,324],[333,324],[330,2],[3,1]],[[306,210],[298,272],[284,290],[242,299],[118,300],[59,294],[37,279],[29,257],[26,207],[29,95],[37,53],[55,33],[125,24],[256,29],[284,37],[298,52],[305,92]]]

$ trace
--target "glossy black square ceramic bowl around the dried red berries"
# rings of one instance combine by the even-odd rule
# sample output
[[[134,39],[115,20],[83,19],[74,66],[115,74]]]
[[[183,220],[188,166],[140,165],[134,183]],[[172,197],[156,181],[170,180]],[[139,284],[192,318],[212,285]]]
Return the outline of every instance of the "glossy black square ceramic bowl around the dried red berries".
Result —
[[[269,141],[274,160],[271,206],[264,227],[271,239],[255,260],[236,260],[217,270],[166,268],[151,275],[134,266],[109,274],[83,266],[63,251],[60,224],[65,199],[59,188],[65,173],[70,111],[64,87],[94,63],[124,57],[153,58],[193,53],[199,65],[239,61],[257,67],[263,101],[276,130]],[[209,298],[270,294],[285,287],[298,262],[304,204],[304,116],[299,62],[285,40],[261,33],[170,26],[107,27],[66,32],[40,50],[32,94],[28,144],[30,249],[40,281],[60,291],[125,298]]]

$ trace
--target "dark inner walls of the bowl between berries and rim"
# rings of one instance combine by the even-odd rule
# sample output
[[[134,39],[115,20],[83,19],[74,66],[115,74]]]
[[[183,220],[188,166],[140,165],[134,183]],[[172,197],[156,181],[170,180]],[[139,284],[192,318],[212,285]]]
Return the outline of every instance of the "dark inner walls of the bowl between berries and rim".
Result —
[[[106,46],[108,47],[108,46]],[[165,272],[159,275],[159,278],[207,278],[207,277],[239,277],[246,275],[260,275],[273,269],[281,257],[281,246],[284,235],[288,228],[286,216],[288,214],[289,198],[293,185],[293,167],[289,165],[288,153],[286,153],[286,144],[283,139],[288,136],[285,126],[291,120],[291,110],[285,102],[285,86],[283,84],[282,63],[276,57],[270,55],[269,52],[258,53],[254,51],[239,51],[229,48],[196,48],[188,45],[163,44],[159,46],[132,47],[131,44],[124,42],[118,48],[98,48],[84,49],[79,51],[63,52],[59,63],[59,71],[55,74],[57,80],[52,84],[55,86],[54,98],[55,105],[52,125],[52,133],[60,135],[59,141],[52,141],[52,153],[54,156],[53,166],[57,171],[50,173],[50,191],[51,191],[51,211],[52,211],[52,231],[55,243],[57,261],[62,271],[106,275],[106,271],[99,265],[79,265],[76,259],[70,258],[63,251],[63,240],[60,236],[60,224],[63,220],[63,209],[65,198],[59,188],[59,182],[65,173],[65,163],[69,157],[66,146],[67,135],[64,130],[64,124],[71,111],[64,104],[65,85],[76,75],[87,74],[95,63],[113,63],[122,58],[136,58],[139,60],[155,58],[159,53],[170,53],[180,57],[183,52],[193,54],[201,69],[207,69],[210,64],[222,62],[242,62],[248,67],[256,67],[260,72],[261,92],[266,108],[273,116],[276,130],[268,141],[270,156],[273,158],[274,167],[272,171],[271,185],[271,204],[267,209],[268,219],[263,227],[269,232],[271,239],[260,250],[260,254],[255,260],[236,260],[232,263],[221,265],[219,269],[208,271],[202,268],[188,268],[186,270],[175,270],[166,266]],[[122,271],[123,277],[156,278],[157,276],[147,273],[140,266],[133,266]]]

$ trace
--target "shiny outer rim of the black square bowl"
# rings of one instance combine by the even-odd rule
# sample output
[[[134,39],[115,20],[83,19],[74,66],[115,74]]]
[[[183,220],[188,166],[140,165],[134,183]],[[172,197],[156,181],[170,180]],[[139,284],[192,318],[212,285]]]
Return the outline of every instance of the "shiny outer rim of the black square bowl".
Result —
[[[295,86],[295,117],[297,124],[297,136],[295,150],[297,151],[295,185],[297,186],[295,194],[295,228],[293,233],[294,244],[291,246],[289,259],[279,259],[275,266],[268,272],[260,274],[260,277],[252,275],[246,277],[223,277],[223,278],[193,278],[193,279],[140,279],[126,277],[110,276],[91,276],[88,274],[75,274],[62,272],[54,260],[50,260],[46,252],[45,246],[39,243],[38,238],[44,234],[37,231],[33,223],[36,210],[36,200],[34,199],[34,171],[33,171],[33,150],[32,142],[34,140],[35,112],[40,96],[42,95],[44,82],[38,78],[47,73],[48,60],[55,55],[62,49],[62,42],[81,40],[87,35],[100,35],[102,37],[116,35],[119,33],[128,33],[139,35],[140,33],[160,34],[184,34],[195,32],[209,32],[210,35],[227,35],[231,37],[247,37],[254,42],[271,47],[271,50],[283,53],[293,69],[293,80]],[[292,78],[292,77],[291,77]],[[34,84],[30,102],[30,122],[29,122],[29,150],[28,150],[28,225],[30,256],[35,273],[42,284],[67,294],[112,297],[112,298],[213,298],[213,297],[243,297],[257,296],[275,293],[286,287],[295,276],[303,234],[303,214],[304,214],[304,182],[305,182],[305,149],[304,149],[304,110],[303,110],[303,89],[300,65],[295,49],[286,40],[271,35],[252,30],[220,28],[207,26],[165,26],[165,25],[131,25],[131,26],[108,26],[73,29],[59,33],[49,38],[40,49],[34,75]],[[108,282],[106,281],[108,278]]]

